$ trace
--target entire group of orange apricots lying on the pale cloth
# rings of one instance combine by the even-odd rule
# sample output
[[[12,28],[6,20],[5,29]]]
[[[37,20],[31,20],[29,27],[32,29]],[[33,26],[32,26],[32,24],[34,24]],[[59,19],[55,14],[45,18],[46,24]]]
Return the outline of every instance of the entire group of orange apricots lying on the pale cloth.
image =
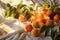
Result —
[[[38,36],[40,33],[37,30],[37,28],[42,28],[44,25],[46,26],[53,26],[53,22],[59,23],[60,22],[60,16],[58,14],[55,14],[51,19],[52,11],[47,9],[42,9],[41,13],[38,13],[38,11],[34,11],[32,13],[33,15],[29,18],[29,20],[26,20],[26,17],[24,15],[21,15],[19,17],[20,22],[29,21],[31,24],[26,24],[24,30],[27,32],[31,32],[32,36]]]

